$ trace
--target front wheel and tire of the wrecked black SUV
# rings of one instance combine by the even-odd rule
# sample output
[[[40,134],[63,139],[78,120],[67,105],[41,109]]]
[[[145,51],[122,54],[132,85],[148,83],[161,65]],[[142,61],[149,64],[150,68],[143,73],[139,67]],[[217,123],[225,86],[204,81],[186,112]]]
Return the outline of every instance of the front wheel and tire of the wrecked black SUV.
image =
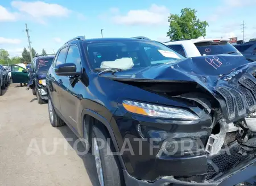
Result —
[[[96,177],[98,177],[98,185],[104,185],[104,186],[122,186],[124,185],[124,179],[122,174],[121,166],[119,165],[119,160],[117,156],[114,156],[114,145],[111,141],[110,144],[108,143],[109,140],[107,140],[109,137],[108,133],[106,133],[105,129],[103,127],[100,127],[98,125],[94,125],[92,129],[92,152],[95,159],[95,165],[97,174]],[[96,141],[96,139],[102,139],[105,142],[105,146],[101,149],[98,149],[96,147],[96,144],[98,145],[99,142]],[[97,150],[98,149],[98,150]],[[110,150],[110,153],[109,153]],[[100,157],[97,155],[97,151]],[[100,161],[98,160],[100,159]],[[101,171],[97,168],[97,163],[100,162],[101,164]],[[99,173],[102,173],[104,184],[100,183],[101,177],[98,176]]]

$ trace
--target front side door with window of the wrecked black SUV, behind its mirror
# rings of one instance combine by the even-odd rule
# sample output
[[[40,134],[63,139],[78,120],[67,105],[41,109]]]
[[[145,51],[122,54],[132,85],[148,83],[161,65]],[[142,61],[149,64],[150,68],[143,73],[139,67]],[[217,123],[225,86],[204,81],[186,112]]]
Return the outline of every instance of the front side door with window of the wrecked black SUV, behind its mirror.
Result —
[[[81,72],[81,57],[79,48],[73,44],[69,47],[65,63],[75,63],[76,71]],[[77,131],[81,94],[84,86],[79,78],[62,76],[63,89],[60,97],[61,112],[65,120]],[[81,114],[81,113],[80,113]]]

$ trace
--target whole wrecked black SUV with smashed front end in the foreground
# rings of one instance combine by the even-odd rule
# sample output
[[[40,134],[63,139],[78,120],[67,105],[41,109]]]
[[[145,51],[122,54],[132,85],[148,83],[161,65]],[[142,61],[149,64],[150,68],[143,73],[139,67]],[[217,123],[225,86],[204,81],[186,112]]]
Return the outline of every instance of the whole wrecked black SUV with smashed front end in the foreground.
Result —
[[[98,185],[234,185],[255,175],[255,74],[243,56],[80,36],[48,71],[49,118],[84,139]]]

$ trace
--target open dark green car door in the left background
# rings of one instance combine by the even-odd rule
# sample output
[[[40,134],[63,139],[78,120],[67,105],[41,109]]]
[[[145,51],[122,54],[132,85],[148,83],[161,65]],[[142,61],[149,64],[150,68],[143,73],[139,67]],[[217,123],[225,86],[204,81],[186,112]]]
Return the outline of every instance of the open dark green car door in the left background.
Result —
[[[19,65],[11,65],[11,78],[13,78],[14,83],[27,83],[28,72],[25,68],[20,67]]]

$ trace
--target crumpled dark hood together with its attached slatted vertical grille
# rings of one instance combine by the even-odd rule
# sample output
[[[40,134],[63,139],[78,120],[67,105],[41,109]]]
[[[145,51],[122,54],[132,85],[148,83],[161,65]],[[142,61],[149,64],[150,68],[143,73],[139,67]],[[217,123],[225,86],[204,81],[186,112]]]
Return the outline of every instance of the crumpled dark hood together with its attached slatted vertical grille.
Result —
[[[256,78],[254,77],[256,62],[249,63],[243,56],[191,57],[177,63],[102,73],[100,76],[115,81],[128,81],[127,83],[167,82],[167,86],[168,82],[191,82],[203,89],[203,92],[212,94],[219,102],[224,118],[228,122],[236,121],[246,117],[251,111],[256,111]],[[250,106],[246,107],[247,105]]]

